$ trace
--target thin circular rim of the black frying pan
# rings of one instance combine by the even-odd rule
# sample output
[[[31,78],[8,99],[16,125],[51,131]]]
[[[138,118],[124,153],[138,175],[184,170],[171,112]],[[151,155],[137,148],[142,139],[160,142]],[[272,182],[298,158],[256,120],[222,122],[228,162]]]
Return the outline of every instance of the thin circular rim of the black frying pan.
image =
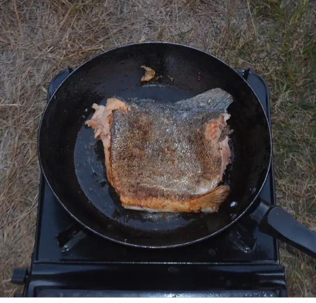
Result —
[[[269,156],[269,162],[268,162],[268,165],[267,165],[267,168],[266,168],[266,171],[265,171],[265,177],[263,179],[263,181],[261,182],[261,186],[260,188],[258,189],[257,191],[257,194],[256,196],[253,198],[253,200],[251,202],[249,202],[249,204],[247,205],[247,207],[245,207],[245,209],[234,219],[232,220],[231,222],[229,222],[228,224],[226,224],[224,227],[218,229],[217,231],[205,236],[205,237],[201,237],[201,238],[198,238],[196,240],[193,240],[193,241],[189,241],[189,242],[183,242],[183,243],[179,243],[179,244],[171,244],[171,245],[162,245],[162,246],[157,246],[157,245],[142,245],[142,244],[134,244],[134,243],[129,243],[129,242],[124,242],[124,241],[119,241],[117,239],[114,239],[114,238],[110,238],[108,236],[105,236],[104,234],[98,232],[97,230],[91,228],[90,226],[86,225],[84,222],[82,222],[79,218],[77,218],[65,205],[64,203],[60,200],[59,196],[56,194],[55,190],[53,189],[52,187],[52,184],[48,181],[48,178],[47,178],[47,175],[45,173],[45,170],[44,170],[44,166],[43,166],[43,163],[42,163],[42,157],[41,157],[41,153],[40,153],[40,145],[41,145],[41,129],[42,129],[42,123],[45,119],[45,116],[46,116],[46,112],[48,111],[48,108],[50,107],[50,104],[52,102],[54,102],[54,97],[55,97],[55,94],[56,92],[59,90],[59,87],[73,74],[75,73],[78,69],[80,69],[81,67],[85,66],[86,63],[90,62],[90,61],[93,61],[93,60],[96,60],[98,59],[99,57],[102,57],[104,56],[106,53],[109,53],[111,51],[115,51],[115,50],[118,50],[118,49],[123,49],[123,48],[128,48],[128,47],[131,47],[131,46],[141,46],[141,45],[146,45],[146,44],[166,44],[166,45],[175,45],[175,46],[179,46],[179,47],[184,47],[184,48],[190,48],[192,50],[195,50],[195,51],[198,51],[200,53],[204,53],[205,55],[209,56],[209,57],[213,57],[213,59],[217,60],[217,61],[220,61],[222,64],[226,65],[230,70],[232,70],[236,76],[242,81],[244,81],[244,83],[248,86],[248,88],[251,90],[252,94],[256,97],[257,101],[259,102],[260,106],[261,106],[261,111],[263,112],[264,114],[264,117],[265,117],[265,121],[266,121],[266,124],[267,124],[267,127],[268,127],[268,130],[269,130],[269,140],[270,140],[270,156]],[[262,78],[262,77],[261,77]],[[270,97],[270,96],[269,96]],[[269,98],[270,100],[270,98]],[[272,141],[272,132],[271,132],[271,126],[270,126],[270,123],[269,123],[269,120],[268,120],[268,117],[267,117],[267,113],[265,112],[264,108],[263,108],[263,105],[260,101],[260,99],[258,98],[256,92],[253,90],[253,88],[250,86],[250,84],[248,83],[248,81],[246,81],[237,71],[235,68],[233,68],[232,66],[230,66],[228,63],[226,63],[225,61],[223,61],[222,59],[218,58],[217,56],[209,53],[209,52],[206,52],[204,50],[201,50],[200,48],[197,48],[195,46],[191,46],[191,45],[187,45],[187,44],[182,44],[182,43],[177,43],[177,42],[168,42],[168,41],[155,41],[155,40],[150,40],[150,41],[144,41],[144,42],[134,42],[134,43],[127,43],[127,44],[122,44],[122,45],[119,45],[119,46],[115,46],[115,47],[112,47],[112,48],[109,48],[107,50],[105,50],[104,52],[101,52],[93,57],[91,57],[90,59],[82,62],[81,64],[79,64],[76,68],[74,68],[70,73],[69,75],[59,84],[59,86],[56,88],[56,90],[54,91],[54,93],[52,94],[51,98],[49,99],[49,101],[47,101],[47,104],[42,112],[42,116],[41,116],[41,119],[40,119],[40,124],[39,124],[39,128],[38,128],[38,140],[37,140],[37,151],[38,151],[38,159],[39,159],[39,164],[40,164],[40,170],[41,170],[41,173],[43,175],[43,177],[45,178],[45,181],[46,183],[48,184],[49,188],[51,189],[51,191],[53,192],[55,198],[57,199],[57,201],[59,202],[59,204],[66,210],[66,212],[73,218],[75,219],[75,221],[79,222],[80,225],[83,227],[83,229],[87,229],[89,230],[90,232],[93,232],[94,234],[98,235],[99,237],[103,238],[103,239],[106,239],[106,240],[109,240],[109,241],[112,241],[112,242],[116,242],[116,243],[119,243],[119,244],[123,244],[123,245],[127,245],[127,246],[132,246],[132,247],[138,247],[138,248],[150,248],[150,249],[165,249],[165,248],[177,248],[177,247],[183,247],[183,246],[187,246],[187,245],[191,245],[191,244],[195,244],[197,242],[201,242],[201,241],[204,241],[204,240],[207,240],[209,238],[212,238],[220,233],[222,233],[223,231],[227,230],[228,228],[230,228],[233,224],[237,223],[248,211],[249,209],[253,206],[253,204],[256,202],[256,200],[258,199],[261,191],[262,191],[262,188],[263,186],[265,185],[266,181],[267,181],[267,178],[268,178],[268,175],[269,175],[269,171],[270,171],[270,168],[271,168],[271,162],[272,162],[272,152],[273,152],[273,141]]]

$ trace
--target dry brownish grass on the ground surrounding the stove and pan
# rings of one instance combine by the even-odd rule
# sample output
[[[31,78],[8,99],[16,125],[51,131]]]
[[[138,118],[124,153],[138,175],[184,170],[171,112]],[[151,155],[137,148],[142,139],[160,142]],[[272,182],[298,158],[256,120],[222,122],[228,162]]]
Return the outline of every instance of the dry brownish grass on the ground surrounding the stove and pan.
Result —
[[[37,127],[51,78],[107,48],[166,40],[251,67],[271,92],[277,202],[316,231],[316,2],[0,0],[0,293],[34,244]],[[316,296],[316,263],[282,246],[291,296]]]

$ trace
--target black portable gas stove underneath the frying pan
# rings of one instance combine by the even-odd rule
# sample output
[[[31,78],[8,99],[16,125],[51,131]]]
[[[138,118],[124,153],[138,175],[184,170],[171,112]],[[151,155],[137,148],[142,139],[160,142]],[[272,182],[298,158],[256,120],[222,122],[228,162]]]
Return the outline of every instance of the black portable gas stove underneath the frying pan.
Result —
[[[54,77],[47,100],[71,71],[68,67]],[[267,84],[249,69],[237,71],[271,122]],[[260,196],[276,203],[273,165]],[[30,268],[13,273],[12,283],[24,284],[15,297],[287,297],[277,240],[258,232],[246,217],[217,237],[189,246],[134,248],[83,230],[41,176],[37,220]]]

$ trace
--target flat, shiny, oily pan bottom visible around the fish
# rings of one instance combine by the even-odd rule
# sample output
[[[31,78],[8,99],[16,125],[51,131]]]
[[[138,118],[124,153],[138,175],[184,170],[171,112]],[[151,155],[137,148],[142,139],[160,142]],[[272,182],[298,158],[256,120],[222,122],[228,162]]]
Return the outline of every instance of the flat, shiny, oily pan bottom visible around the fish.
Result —
[[[135,86],[127,91],[116,94],[121,99],[131,96],[139,99],[154,99],[157,102],[176,102],[194,96],[194,93],[166,83],[145,84]],[[107,98],[99,102],[105,105]],[[87,112],[91,110],[87,109]],[[90,113],[88,119],[93,113]],[[77,136],[74,162],[78,182],[87,198],[105,214],[124,226],[141,228],[143,231],[170,231],[184,227],[205,217],[205,214],[185,213],[149,213],[124,209],[119,197],[107,180],[102,142],[93,138],[93,130],[82,125]]]

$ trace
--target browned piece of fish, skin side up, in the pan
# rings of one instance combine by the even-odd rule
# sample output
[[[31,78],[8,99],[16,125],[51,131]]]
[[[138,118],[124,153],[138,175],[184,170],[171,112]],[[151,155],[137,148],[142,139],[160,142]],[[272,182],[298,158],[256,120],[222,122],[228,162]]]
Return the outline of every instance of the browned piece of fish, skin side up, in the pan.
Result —
[[[230,163],[228,106],[212,89],[176,103],[110,98],[86,124],[102,140],[110,184],[122,206],[145,211],[214,212]]]

